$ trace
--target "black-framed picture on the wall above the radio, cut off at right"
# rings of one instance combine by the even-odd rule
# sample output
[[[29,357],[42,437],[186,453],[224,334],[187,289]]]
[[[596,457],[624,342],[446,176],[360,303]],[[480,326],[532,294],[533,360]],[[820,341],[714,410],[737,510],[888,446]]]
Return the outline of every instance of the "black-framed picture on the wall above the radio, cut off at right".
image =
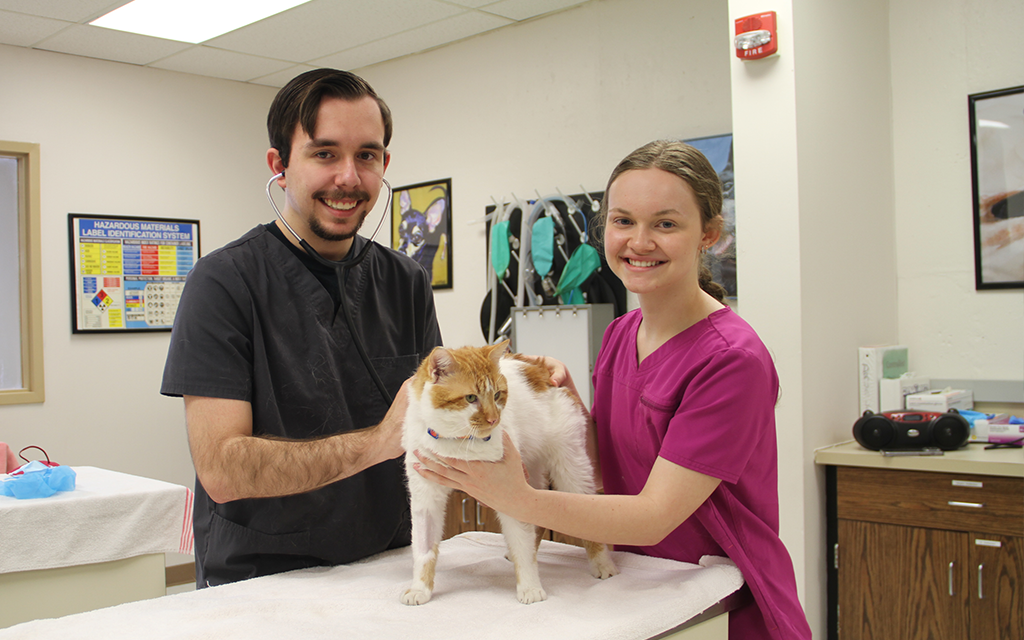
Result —
[[[1024,288],[1024,86],[968,96],[976,289]]]

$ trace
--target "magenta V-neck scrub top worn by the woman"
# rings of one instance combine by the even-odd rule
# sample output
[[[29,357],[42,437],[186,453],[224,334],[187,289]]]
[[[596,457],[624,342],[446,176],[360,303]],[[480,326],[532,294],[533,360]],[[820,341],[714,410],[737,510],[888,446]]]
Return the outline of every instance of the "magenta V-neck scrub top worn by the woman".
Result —
[[[617,549],[691,563],[728,556],[754,596],[730,615],[729,637],[810,638],[778,538],[778,376],[768,350],[726,307],[638,366],[641,319],[637,309],[613,321],[594,366],[604,492],[639,494],[658,457],[722,482],[660,543]]]

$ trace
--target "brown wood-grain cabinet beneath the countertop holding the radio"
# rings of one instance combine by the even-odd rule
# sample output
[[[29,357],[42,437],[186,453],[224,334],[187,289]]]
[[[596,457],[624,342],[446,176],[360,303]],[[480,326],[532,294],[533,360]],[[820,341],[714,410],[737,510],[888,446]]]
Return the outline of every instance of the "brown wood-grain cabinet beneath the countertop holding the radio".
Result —
[[[830,637],[1024,638],[1024,478],[829,467]]]

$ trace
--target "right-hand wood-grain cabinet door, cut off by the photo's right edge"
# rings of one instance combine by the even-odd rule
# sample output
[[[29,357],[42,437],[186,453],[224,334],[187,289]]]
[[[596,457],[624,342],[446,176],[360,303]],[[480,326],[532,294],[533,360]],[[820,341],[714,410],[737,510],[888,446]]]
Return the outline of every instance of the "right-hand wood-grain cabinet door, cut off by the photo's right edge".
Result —
[[[1024,539],[972,534],[971,637],[1024,638]]]

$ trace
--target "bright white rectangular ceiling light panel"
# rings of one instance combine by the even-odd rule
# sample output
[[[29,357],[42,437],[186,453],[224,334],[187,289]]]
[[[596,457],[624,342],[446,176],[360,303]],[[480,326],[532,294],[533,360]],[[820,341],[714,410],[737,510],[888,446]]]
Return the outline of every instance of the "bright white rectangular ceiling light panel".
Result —
[[[90,25],[198,44],[309,0],[133,0]]]

